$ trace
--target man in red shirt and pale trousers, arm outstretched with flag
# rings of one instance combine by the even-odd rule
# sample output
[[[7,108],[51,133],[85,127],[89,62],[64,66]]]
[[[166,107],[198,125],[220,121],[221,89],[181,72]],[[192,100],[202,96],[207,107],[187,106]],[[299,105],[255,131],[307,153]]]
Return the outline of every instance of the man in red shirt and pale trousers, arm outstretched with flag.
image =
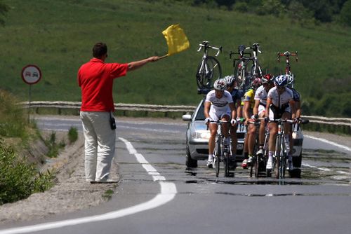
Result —
[[[109,179],[109,174],[116,141],[112,116],[114,78],[126,76],[127,71],[159,60],[159,57],[153,56],[119,64],[105,63],[106,58],[106,44],[96,43],[93,46],[93,58],[78,71],[78,84],[81,87],[80,116],[85,138],[85,174],[86,181],[91,183],[113,182]]]

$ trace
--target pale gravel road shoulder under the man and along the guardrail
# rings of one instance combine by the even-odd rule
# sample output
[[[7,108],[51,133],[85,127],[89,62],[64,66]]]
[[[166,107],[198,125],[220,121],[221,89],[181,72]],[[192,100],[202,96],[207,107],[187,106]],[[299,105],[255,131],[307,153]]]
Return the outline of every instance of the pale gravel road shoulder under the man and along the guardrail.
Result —
[[[145,121],[150,121],[150,118]],[[138,119],[140,121],[140,119]],[[157,119],[163,122],[163,119]],[[166,119],[165,123],[184,123],[179,120]],[[60,133],[62,134],[66,133]],[[343,144],[351,148],[351,137],[332,135],[329,133],[308,132],[332,142]],[[59,137],[58,137],[59,138]],[[0,225],[14,221],[29,221],[43,219],[46,216],[74,212],[100,205],[108,200],[105,192],[112,190],[118,184],[90,184],[84,179],[84,136],[79,134],[79,139],[72,145],[67,145],[58,158],[48,160],[41,170],[55,170],[57,184],[45,193],[34,193],[25,200],[0,206]],[[118,165],[112,163],[112,179],[119,179]]]

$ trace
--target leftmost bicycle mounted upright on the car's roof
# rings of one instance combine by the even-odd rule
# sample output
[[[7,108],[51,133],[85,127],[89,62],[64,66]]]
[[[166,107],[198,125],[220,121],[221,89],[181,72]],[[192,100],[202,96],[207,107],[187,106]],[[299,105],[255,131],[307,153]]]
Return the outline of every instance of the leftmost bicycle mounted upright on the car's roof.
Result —
[[[222,46],[217,48],[214,46],[209,46],[208,44],[208,41],[203,41],[201,44],[199,44],[200,47],[199,50],[197,50],[197,52],[200,52],[200,50],[204,48],[204,55],[202,55],[202,59],[197,67],[196,74],[197,87],[199,87],[199,89],[211,89],[213,85],[212,82],[222,77],[222,68],[220,67],[220,62],[218,62],[216,59],[216,57],[222,51]],[[215,55],[216,57],[208,55],[208,48],[218,50]]]

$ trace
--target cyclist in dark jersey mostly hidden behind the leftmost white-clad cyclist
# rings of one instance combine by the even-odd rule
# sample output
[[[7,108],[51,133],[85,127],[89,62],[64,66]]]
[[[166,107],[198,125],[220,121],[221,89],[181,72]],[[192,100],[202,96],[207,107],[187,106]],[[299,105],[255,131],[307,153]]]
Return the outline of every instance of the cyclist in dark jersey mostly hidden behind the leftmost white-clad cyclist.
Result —
[[[237,109],[237,118],[241,118],[241,97],[244,95],[242,90],[238,90],[235,87],[236,81],[234,75],[225,76],[225,80],[227,81],[227,91],[232,95],[233,103]],[[230,138],[232,139],[232,155],[230,160],[232,163],[231,167],[237,167],[236,162],[236,154],[237,154],[237,124],[234,126],[230,126]]]

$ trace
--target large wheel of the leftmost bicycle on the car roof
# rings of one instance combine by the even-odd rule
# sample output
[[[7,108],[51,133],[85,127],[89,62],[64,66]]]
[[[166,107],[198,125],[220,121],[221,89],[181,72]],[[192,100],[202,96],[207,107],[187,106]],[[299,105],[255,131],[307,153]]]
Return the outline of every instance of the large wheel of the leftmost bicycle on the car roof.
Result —
[[[197,67],[197,87],[201,89],[213,88],[213,81],[222,77],[222,68],[216,57],[208,56],[206,61],[201,61]]]

